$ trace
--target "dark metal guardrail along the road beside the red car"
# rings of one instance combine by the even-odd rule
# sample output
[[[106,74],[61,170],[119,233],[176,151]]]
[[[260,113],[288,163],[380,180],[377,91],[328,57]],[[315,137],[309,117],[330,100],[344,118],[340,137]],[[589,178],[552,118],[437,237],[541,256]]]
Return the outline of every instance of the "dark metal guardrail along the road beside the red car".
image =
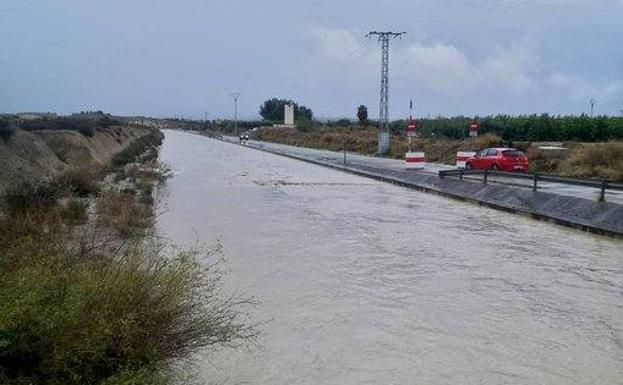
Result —
[[[556,175],[548,174],[524,174],[518,172],[498,171],[498,170],[442,170],[439,171],[439,177],[444,178],[447,176],[458,176],[460,180],[463,180],[465,175],[482,175],[483,183],[488,182],[489,176],[504,176],[516,179],[524,179],[532,181],[532,190],[538,189],[539,182],[551,182],[560,183],[572,186],[591,187],[600,190],[599,201],[606,200],[606,190],[623,191],[623,183],[615,183],[608,180],[599,179],[578,179],[578,178],[566,178]]]

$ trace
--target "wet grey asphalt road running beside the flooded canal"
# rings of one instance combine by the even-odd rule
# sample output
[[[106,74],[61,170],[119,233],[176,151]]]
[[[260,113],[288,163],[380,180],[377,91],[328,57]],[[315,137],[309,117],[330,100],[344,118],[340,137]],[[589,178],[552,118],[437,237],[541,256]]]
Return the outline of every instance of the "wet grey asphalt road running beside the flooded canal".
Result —
[[[225,137],[227,141],[232,143],[238,143],[238,138],[235,137]],[[249,140],[247,146],[268,150],[272,152],[283,153],[287,155],[293,155],[309,160],[321,161],[330,164],[343,164],[344,162],[344,153],[338,151],[329,151],[329,150],[317,150],[306,147],[295,147],[288,146],[284,144],[278,143],[269,143],[269,142],[261,142],[255,140]],[[346,153],[346,161],[349,164],[353,165],[366,165],[379,169],[387,169],[387,170],[399,170],[404,171],[405,165],[404,162],[400,159],[389,159],[389,158],[381,158],[375,156],[366,156],[355,154],[351,152]],[[441,170],[454,170],[456,167],[439,164],[439,163],[424,163],[423,169],[421,170],[410,170],[410,172],[414,173],[427,173],[437,175]],[[482,177],[480,176],[470,176],[464,178],[464,180],[468,182],[481,182]],[[503,176],[489,176],[489,183],[500,183],[505,185],[512,185],[521,188],[532,188],[532,181],[526,179],[512,178],[512,177],[503,177]],[[584,198],[590,200],[598,200],[599,199],[599,189],[591,188],[591,187],[581,187],[581,186],[571,186],[562,183],[551,183],[551,182],[539,182],[538,188],[540,191],[545,191],[554,194],[573,196],[577,198]],[[606,191],[606,201],[616,204],[623,204],[623,191]]]

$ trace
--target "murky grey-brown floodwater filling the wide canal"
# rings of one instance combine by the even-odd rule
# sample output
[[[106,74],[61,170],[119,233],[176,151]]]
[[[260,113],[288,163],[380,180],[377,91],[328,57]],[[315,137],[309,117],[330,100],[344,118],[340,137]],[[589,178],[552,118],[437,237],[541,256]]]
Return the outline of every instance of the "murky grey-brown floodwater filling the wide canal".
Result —
[[[220,240],[264,322],[203,382],[623,383],[623,241],[165,135],[160,232]]]

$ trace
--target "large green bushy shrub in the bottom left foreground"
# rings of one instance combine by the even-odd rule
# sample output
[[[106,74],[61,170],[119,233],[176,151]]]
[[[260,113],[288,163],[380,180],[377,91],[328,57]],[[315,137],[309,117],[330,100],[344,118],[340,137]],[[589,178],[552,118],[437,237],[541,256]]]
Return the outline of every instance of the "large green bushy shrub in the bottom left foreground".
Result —
[[[111,257],[59,245],[0,270],[0,379],[16,384],[166,383],[166,364],[251,337],[248,301],[223,298],[196,251]]]

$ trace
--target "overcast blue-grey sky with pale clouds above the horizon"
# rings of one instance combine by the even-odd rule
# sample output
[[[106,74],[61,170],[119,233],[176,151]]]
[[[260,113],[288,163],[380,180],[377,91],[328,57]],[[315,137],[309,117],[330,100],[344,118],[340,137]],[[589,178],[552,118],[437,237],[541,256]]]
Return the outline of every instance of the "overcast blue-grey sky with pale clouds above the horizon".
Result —
[[[623,0],[2,0],[0,112],[318,117],[580,114],[623,109]]]

